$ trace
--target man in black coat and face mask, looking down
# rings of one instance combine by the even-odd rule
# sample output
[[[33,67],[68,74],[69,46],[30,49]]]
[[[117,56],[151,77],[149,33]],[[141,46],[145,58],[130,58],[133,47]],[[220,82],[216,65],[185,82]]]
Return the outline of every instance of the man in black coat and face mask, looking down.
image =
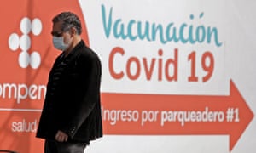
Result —
[[[76,14],[53,18],[56,59],[47,84],[37,137],[45,139],[45,153],[83,153],[90,140],[102,137],[101,61],[81,38]]]

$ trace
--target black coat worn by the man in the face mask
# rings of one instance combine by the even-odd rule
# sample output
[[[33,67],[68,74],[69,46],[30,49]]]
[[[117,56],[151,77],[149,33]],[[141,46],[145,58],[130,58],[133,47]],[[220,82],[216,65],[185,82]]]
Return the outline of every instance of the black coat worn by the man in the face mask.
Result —
[[[64,53],[58,56],[49,73],[36,136],[55,139],[61,130],[68,134],[68,141],[87,144],[102,137],[101,77],[100,59],[84,41],[66,58]]]

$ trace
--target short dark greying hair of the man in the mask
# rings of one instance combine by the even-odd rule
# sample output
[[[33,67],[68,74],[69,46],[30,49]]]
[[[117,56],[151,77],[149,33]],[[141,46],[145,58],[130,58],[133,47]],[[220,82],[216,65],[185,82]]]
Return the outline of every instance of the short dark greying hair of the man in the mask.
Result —
[[[61,31],[68,31],[71,27],[74,27],[79,35],[82,33],[81,22],[76,14],[73,14],[72,12],[62,12],[52,19],[54,24],[59,21],[63,22]]]

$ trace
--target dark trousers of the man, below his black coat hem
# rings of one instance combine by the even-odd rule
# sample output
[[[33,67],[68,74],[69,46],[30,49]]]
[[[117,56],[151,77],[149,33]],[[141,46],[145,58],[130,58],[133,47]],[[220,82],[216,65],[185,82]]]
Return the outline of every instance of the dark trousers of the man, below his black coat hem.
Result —
[[[46,139],[44,153],[84,153],[85,144]]]

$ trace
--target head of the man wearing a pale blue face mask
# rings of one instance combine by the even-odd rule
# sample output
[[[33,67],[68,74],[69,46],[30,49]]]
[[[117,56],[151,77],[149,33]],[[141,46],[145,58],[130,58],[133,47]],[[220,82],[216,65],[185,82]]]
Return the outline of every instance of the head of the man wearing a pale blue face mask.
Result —
[[[71,12],[57,14],[51,34],[55,48],[69,52],[81,40],[82,27],[79,17]]]

